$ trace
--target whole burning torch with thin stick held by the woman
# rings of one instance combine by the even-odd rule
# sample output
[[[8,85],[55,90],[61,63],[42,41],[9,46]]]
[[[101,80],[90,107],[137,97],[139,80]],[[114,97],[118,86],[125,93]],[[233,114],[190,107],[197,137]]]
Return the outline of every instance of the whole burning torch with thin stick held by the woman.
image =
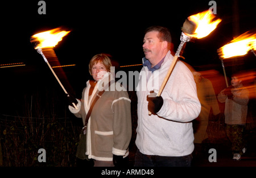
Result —
[[[64,90],[65,94],[69,97],[67,90],[64,88],[63,84],[61,84],[59,78],[57,77],[56,73],[53,71],[51,65],[49,64],[44,52],[47,53],[47,56],[56,57],[56,54],[53,50],[53,47],[57,45],[62,38],[67,35],[70,31],[61,31],[60,28],[55,28],[53,30],[41,32],[39,34],[35,34],[31,36],[30,42],[35,44],[35,49],[40,55],[42,55],[44,61],[47,63],[48,67],[51,69],[53,75],[55,76],[56,80],[59,82],[61,88]],[[72,105],[77,109],[76,104],[72,102]]]

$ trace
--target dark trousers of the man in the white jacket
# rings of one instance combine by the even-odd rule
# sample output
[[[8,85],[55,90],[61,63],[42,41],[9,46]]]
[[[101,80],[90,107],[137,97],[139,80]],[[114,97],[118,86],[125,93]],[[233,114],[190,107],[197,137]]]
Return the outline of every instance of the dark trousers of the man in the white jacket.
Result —
[[[191,167],[192,154],[186,156],[144,155],[139,149],[135,155],[135,167]]]

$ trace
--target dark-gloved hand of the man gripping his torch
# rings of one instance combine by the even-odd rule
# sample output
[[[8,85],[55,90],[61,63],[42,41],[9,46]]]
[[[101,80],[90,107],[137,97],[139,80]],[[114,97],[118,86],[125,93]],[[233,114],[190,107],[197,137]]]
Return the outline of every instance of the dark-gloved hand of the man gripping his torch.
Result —
[[[147,96],[147,101],[148,101],[147,107],[148,107],[148,111],[150,111],[152,114],[156,114],[163,106],[163,98],[161,96],[156,97],[154,96],[154,94],[152,96],[152,92],[153,91],[151,91],[150,92],[151,94]]]

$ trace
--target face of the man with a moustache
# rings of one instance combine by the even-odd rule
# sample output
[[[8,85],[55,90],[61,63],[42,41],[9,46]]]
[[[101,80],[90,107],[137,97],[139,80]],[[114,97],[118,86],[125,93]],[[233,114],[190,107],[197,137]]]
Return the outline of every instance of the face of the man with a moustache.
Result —
[[[160,53],[162,50],[162,42],[160,42],[158,34],[158,31],[150,31],[145,34],[143,39],[143,51],[146,59],[151,63],[154,60],[158,60],[159,56],[162,55],[162,53]]]

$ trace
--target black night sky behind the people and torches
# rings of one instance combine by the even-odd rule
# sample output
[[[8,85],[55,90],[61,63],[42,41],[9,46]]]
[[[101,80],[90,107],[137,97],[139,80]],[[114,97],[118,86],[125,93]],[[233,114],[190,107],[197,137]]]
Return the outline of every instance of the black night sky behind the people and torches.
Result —
[[[63,70],[79,96],[89,78],[88,63],[92,56],[105,52],[119,65],[141,64],[143,32],[152,25],[170,28],[176,51],[184,20],[210,7],[209,1],[45,2],[46,15],[38,14],[38,1],[1,3],[1,42],[4,46],[1,47],[1,64],[26,64],[0,68],[1,90],[6,93],[5,97],[14,93],[32,95],[42,86],[58,85],[42,56],[30,43],[30,36],[38,32],[57,27],[71,30],[55,47],[55,52],[61,65],[76,64]],[[192,66],[213,64],[215,69],[216,66],[221,69],[216,51],[233,39],[234,14],[239,15],[238,35],[255,30],[255,1],[237,2],[236,13],[233,13],[234,1],[216,1],[217,17],[222,22],[207,38],[187,43],[185,62]]]

